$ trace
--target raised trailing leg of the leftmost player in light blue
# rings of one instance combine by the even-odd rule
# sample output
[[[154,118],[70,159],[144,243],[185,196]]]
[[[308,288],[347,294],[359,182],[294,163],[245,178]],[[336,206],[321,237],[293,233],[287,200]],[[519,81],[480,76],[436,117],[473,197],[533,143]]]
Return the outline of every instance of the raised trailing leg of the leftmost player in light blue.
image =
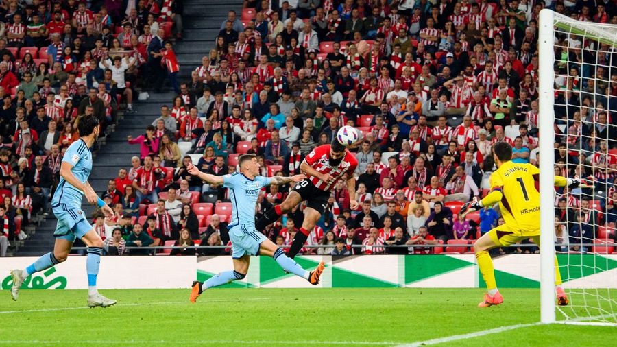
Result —
[[[19,288],[28,276],[34,274],[35,272],[47,270],[49,267],[52,267],[58,263],[62,263],[66,260],[66,257],[69,256],[71,247],[73,247],[73,241],[75,241],[75,235],[70,232],[69,226],[64,223],[62,216],[56,215],[56,217],[58,217],[58,224],[56,225],[56,232],[53,233],[56,237],[56,243],[53,245],[53,251],[43,254],[43,256],[40,256],[40,258],[36,259],[34,263],[25,269],[16,269],[11,272],[11,277],[13,280],[11,296],[13,300],[17,300],[19,297]]]

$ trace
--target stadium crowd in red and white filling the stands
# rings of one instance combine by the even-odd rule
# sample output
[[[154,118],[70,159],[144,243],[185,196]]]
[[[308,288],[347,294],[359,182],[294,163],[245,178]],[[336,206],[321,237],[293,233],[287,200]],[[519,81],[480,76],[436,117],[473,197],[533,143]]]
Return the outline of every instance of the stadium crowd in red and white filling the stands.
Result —
[[[82,5],[71,3],[76,12],[65,12],[75,12],[76,23]],[[101,119],[113,121],[118,102],[109,95],[123,95],[130,112],[133,93],[127,82],[139,83],[134,71],[142,68],[156,71],[152,75],[160,82],[165,77],[162,56],[178,95],[160,107],[160,117],[144,134],[129,136],[128,143],[140,146],[140,156],[119,168],[101,194],[116,213],[112,219],[95,215],[95,228],[106,237],[110,254],[123,254],[126,246],[143,247],[130,254],[152,254],[149,246],[162,245],[186,246],[172,254],[228,254],[229,248],[190,247],[229,246],[231,204],[225,188],[202,184],[187,173],[187,165],[221,176],[236,170],[239,155],[254,153],[265,176],[297,174],[304,157],[330,143],[343,125],[362,134],[351,148],[359,161],[360,206],[350,211],[345,184],[339,182],[309,237],[309,246],[326,247],[307,247],[304,253],[469,252],[459,245],[503,223],[490,207],[458,215],[464,202],[488,192],[487,177],[495,168],[492,145],[513,145],[517,163],[537,165],[539,160],[538,13],[551,8],[581,21],[617,24],[613,1],[246,0],[240,15],[230,11],[221,23],[214,48],[191,72],[191,80],[178,81],[173,48],[163,45],[160,24],[175,23],[182,38],[181,12],[168,15],[169,9],[182,8],[181,1],[164,1],[158,14],[154,5],[139,1],[125,21],[105,16],[120,23],[117,39],[106,25],[94,32],[99,14],[107,14],[104,7],[93,23],[49,36],[51,44],[40,47],[47,47],[51,70],[43,62],[45,69],[34,65],[21,72],[27,53],[18,65],[10,54],[10,47],[16,47],[13,36],[7,36],[8,48],[0,40],[5,60],[0,72],[14,71],[3,72],[12,77],[2,77],[0,85],[10,80],[4,90],[16,87],[15,95],[5,93],[2,108],[3,121],[12,121],[5,121],[11,128],[3,133],[5,152],[0,153],[1,162],[8,163],[2,165],[3,191],[13,196],[6,211],[25,218],[37,196],[39,208],[48,207],[40,196],[53,191],[53,182],[37,179],[44,176],[40,170],[50,170],[57,179],[59,161],[53,158],[75,139],[71,122],[84,112],[101,112]],[[23,13],[29,18],[27,8]],[[29,13],[38,23],[34,18],[40,10]],[[53,13],[51,22],[51,15],[43,20],[47,27],[56,23],[58,12]],[[154,24],[160,34],[151,34]],[[142,34],[131,35],[134,31]],[[93,48],[82,48],[92,42]],[[107,60],[124,50],[131,53]],[[557,191],[556,241],[566,245],[559,251],[591,251],[581,244],[616,237],[614,54],[608,45],[575,35],[555,40],[555,173],[595,185],[593,190]],[[41,71],[49,77],[41,78]],[[97,83],[96,89],[90,82]],[[51,93],[58,87],[58,95]],[[50,139],[50,133],[59,140]],[[28,145],[37,141],[38,146]],[[5,167],[12,170],[8,175]],[[26,176],[33,178],[21,178]],[[289,188],[263,191],[256,217],[280,204]],[[302,224],[302,208],[259,231],[288,246]]]

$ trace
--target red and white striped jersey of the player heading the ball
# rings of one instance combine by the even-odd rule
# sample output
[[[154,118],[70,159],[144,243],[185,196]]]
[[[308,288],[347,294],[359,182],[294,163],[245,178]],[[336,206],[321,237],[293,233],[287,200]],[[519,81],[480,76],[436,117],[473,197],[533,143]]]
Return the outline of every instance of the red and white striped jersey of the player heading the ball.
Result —
[[[346,179],[347,176],[353,176],[358,166],[356,157],[347,150],[345,151],[343,160],[341,160],[338,165],[333,167],[330,166],[330,145],[316,147],[304,160],[319,173],[328,173],[334,178],[334,180],[328,184],[317,177],[308,175],[309,180],[315,184],[315,187],[322,191],[332,191],[332,187],[335,186],[338,180],[341,178]]]

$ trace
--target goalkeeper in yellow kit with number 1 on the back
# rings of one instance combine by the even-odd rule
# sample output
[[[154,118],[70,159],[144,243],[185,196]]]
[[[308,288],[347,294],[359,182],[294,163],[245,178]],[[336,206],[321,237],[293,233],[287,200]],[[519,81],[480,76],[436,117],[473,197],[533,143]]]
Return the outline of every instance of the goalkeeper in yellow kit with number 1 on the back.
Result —
[[[483,206],[499,202],[505,224],[493,228],[474,243],[476,259],[486,283],[488,293],[479,307],[489,307],[503,303],[503,296],[497,290],[493,261],[488,251],[497,247],[510,246],[525,239],[533,239],[540,244],[540,193],[535,189],[540,170],[531,164],[518,164],[511,161],[512,147],[506,142],[493,146],[493,158],[498,167],[491,175],[491,191],[479,202],[467,202],[461,207],[463,214],[477,211]],[[577,178],[555,176],[555,186],[577,187]],[[568,297],[561,287],[561,274],[555,258],[555,290],[559,305],[567,305]]]

